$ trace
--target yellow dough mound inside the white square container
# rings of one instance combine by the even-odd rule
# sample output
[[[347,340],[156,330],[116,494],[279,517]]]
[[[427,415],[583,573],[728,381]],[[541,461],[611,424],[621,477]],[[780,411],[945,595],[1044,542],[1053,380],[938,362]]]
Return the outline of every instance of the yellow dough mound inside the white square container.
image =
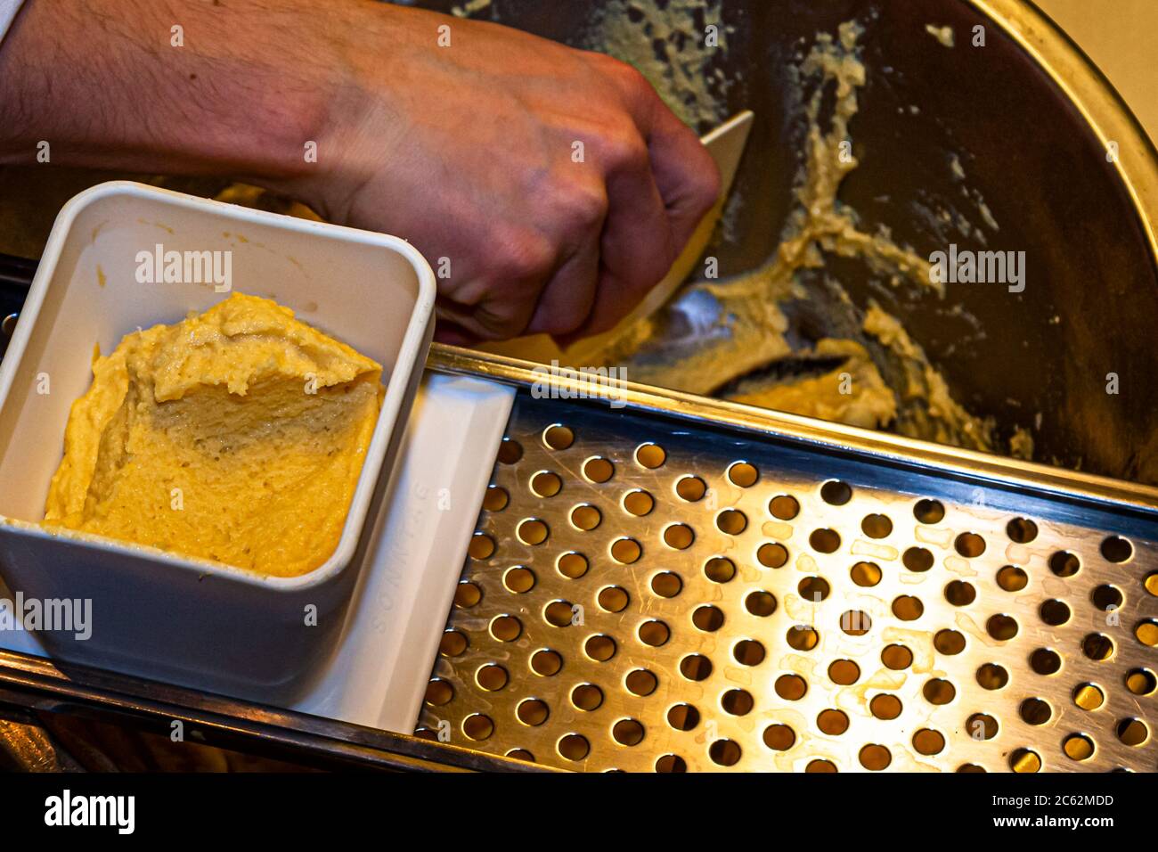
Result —
[[[129,334],[73,403],[43,524],[306,574],[342,536],[381,374],[290,308],[241,293]]]

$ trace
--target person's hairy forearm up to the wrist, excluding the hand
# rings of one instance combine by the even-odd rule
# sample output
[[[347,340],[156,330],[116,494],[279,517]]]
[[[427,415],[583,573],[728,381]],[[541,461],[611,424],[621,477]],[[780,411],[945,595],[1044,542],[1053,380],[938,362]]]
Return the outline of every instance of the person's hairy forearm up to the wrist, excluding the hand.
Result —
[[[28,0],[0,45],[0,161],[35,162],[47,143],[71,166],[299,174],[339,86],[303,6]]]

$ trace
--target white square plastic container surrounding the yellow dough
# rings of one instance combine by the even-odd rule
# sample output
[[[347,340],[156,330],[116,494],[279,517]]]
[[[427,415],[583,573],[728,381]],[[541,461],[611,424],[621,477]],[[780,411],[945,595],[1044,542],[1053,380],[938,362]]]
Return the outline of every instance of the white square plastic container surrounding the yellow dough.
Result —
[[[386,395],[334,555],[264,577],[83,533],[42,530],[69,408],[93,347],[228,297],[211,283],[141,284],[140,252],[230,252],[232,290],[276,299],[383,366]],[[222,255],[223,256],[223,255]],[[41,632],[65,661],[146,677],[287,687],[325,657],[433,329],[434,276],[404,240],[131,182],[94,187],[57,217],[0,366],[0,576],[25,600],[89,600],[91,634]],[[372,507],[373,504],[373,507]]]

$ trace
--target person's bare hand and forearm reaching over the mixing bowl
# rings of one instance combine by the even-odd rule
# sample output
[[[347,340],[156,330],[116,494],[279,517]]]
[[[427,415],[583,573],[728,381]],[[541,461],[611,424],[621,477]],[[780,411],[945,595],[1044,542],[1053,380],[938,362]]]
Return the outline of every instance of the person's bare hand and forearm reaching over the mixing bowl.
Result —
[[[25,0],[0,115],[2,163],[226,175],[448,258],[449,342],[611,328],[719,192],[630,66],[368,0]]]

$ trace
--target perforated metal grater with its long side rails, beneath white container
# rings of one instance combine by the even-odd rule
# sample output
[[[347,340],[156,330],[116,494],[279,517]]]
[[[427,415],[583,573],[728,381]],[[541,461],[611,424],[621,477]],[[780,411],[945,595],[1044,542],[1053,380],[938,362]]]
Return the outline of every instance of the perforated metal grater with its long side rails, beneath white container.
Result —
[[[1158,769],[1158,489],[659,388],[593,385],[449,347],[435,345],[427,366],[515,385],[508,434],[522,452],[500,451],[493,481],[506,505],[484,504],[482,547],[463,577],[482,587],[482,603],[460,598],[448,624],[469,650],[455,655],[452,641],[432,661],[439,687],[422,736],[10,653],[0,654],[0,698],[144,727],[182,719],[207,742],[400,769],[534,769],[511,759],[521,757],[587,770]],[[547,438],[552,425],[570,430],[566,447]],[[661,461],[654,450],[640,457],[640,445],[660,447]],[[570,461],[552,468],[560,453],[608,459],[611,476],[600,482]],[[551,497],[532,490],[543,471],[560,480]],[[687,476],[706,486],[698,500],[681,496]],[[624,498],[643,490],[653,503],[638,515]],[[794,517],[774,510],[774,496],[791,497]],[[558,509],[547,514],[551,500]],[[584,529],[591,518],[576,518],[577,507],[595,509],[600,523]],[[889,531],[881,537],[870,516],[887,518]],[[528,518],[545,522],[542,545],[521,540],[536,537],[520,532]],[[581,552],[573,542],[584,537],[588,570],[572,577],[558,556]],[[980,555],[969,555],[974,537]],[[639,545],[635,561],[613,551],[624,539]],[[519,552],[505,553],[508,544]],[[936,552],[933,565],[922,569],[910,548]],[[717,558],[731,562],[731,577]],[[1014,570],[1003,574],[1006,566]],[[510,575],[516,567],[535,577],[529,589],[521,573]],[[655,581],[672,574],[674,597],[670,577]],[[564,597],[564,587],[576,591]],[[560,600],[582,617],[549,611]],[[1105,624],[1115,613],[1116,626]],[[588,654],[592,636],[602,639]],[[562,658],[557,673],[532,663],[543,649]],[[482,669],[496,664],[503,684],[485,689],[498,672]],[[447,685],[452,697],[439,706]],[[490,730],[468,722],[479,715]],[[450,742],[427,741],[444,720]]]

